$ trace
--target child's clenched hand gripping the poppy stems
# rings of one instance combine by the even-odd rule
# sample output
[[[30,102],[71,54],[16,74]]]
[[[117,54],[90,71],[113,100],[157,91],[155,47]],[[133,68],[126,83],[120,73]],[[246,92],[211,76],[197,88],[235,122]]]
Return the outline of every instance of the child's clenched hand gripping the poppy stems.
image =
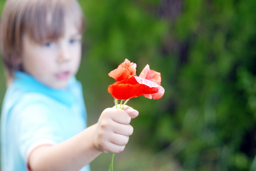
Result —
[[[131,119],[139,112],[129,106],[123,109],[107,108],[99,117],[94,144],[102,152],[119,153],[125,149],[129,136],[133,134]]]

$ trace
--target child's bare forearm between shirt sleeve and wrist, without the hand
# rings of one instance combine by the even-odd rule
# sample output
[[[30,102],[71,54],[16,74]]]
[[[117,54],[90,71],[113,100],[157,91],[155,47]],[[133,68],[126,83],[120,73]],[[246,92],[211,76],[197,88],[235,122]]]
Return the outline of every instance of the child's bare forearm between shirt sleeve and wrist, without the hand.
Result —
[[[31,170],[79,170],[102,152],[94,145],[97,124],[52,146],[39,146],[29,157]]]

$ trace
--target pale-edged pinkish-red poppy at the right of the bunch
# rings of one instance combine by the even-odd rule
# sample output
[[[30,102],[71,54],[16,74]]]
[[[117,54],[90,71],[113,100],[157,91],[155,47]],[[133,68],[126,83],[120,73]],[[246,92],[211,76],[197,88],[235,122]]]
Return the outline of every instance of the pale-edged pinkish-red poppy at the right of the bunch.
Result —
[[[145,96],[148,99],[160,99],[163,96],[163,93],[165,93],[165,89],[160,86],[161,85],[161,73],[150,70],[149,65],[147,64],[146,67],[142,70],[141,74],[139,74],[139,77],[135,76],[135,79],[140,84],[145,84],[149,87],[157,87],[158,92],[157,93],[143,93],[142,95]]]

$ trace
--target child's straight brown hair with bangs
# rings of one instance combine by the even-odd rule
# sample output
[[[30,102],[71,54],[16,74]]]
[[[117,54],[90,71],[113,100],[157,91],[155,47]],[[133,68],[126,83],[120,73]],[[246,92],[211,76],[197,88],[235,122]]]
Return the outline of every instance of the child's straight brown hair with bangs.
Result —
[[[0,47],[7,78],[22,70],[22,36],[35,43],[57,40],[65,32],[65,18],[83,32],[85,20],[76,0],[7,0],[0,23]]]

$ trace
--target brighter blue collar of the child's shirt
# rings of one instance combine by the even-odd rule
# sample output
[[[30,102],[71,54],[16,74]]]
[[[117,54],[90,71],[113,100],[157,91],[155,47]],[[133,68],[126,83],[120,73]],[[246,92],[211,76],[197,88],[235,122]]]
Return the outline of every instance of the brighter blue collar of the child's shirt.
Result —
[[[70,78],[66,89],[55,89],[42,84],[33,76],[26,74],[25,72],[15,71],[14,76],[13,85],[23,91],[42,93],[69,106],[75,100],[75,95],[72,89],[77,83],[75,77]]]

